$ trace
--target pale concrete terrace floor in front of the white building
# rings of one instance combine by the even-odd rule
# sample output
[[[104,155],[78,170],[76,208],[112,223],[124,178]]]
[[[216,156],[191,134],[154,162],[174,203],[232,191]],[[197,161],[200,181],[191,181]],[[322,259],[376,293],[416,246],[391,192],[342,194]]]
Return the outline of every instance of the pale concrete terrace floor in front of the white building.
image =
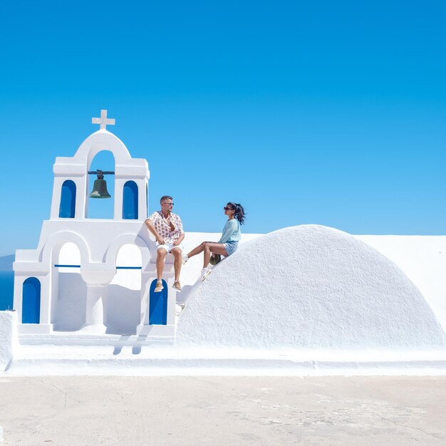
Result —
[[[446,377],[0,377],[2,445],[445,445]]]

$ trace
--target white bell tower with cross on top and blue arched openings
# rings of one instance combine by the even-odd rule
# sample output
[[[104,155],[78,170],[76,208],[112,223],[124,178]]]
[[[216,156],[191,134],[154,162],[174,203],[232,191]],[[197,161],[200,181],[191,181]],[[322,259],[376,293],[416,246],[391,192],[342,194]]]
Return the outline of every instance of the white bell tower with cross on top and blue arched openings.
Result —
[[[110,323],[122,320],[115,331],[128,331],[133,326],[134,333],[120,334],[143,331],[173,337],[174,290],[165,303],[167,323],[149,323],[156,247],[144,223],[150,177],[147,161],[132,158],[124,143],[106,130],[107,125],[115,124],[114,119],[107,118],[107,110],[101,110],[100,118],[93,118],[92,123],[99,124],[100,129],[82,142],[73,157],[56,157],[51,217],[43,222],[37,249],[16,251],[14,307],[19,333],[62,330],[103,334],[110,330]],[[88,201],[93,198],[88,198],[88,172],[95,155],[103,150],[115,158],[114,175],[107,177],[115,182],[113,219],[90,219]],[[67,244],[76,255],[66,256]],[[120,251],[124,246],[130,253],[127,257]],[[122,264],[117,264],[117,259]],[[165,268],[169,282],[173,280],[171,262],[168,259]],[[140,271],[139,289],[116,282],[120,269]],[[61,272],[73,271],[78,274],[61,280]],[[68,310],[77,312],[77,322]]]

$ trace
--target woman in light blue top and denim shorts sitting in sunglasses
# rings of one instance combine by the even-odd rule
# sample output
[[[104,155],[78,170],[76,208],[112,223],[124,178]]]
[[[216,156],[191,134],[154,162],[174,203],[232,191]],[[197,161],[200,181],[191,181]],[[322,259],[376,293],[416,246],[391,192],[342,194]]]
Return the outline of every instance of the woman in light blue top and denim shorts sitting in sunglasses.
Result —
[[[219,254],[225,257],[234,254],[239,247],[239,240],[242,237],[242,232],[240,231],[240,224],[244,223],[244,209],[242,204],[230,202],[223,209],[224,214],[228,217],[228,221],[224,225],[222,237],[219,241],[217,243],[202,242],[202,244],[192,249],[190,253],[183,254],[182,256],[182,263],[185,264],[190,257],[203,252],[202,280],[206,279],[212,271],[209,267],[211,254]]]

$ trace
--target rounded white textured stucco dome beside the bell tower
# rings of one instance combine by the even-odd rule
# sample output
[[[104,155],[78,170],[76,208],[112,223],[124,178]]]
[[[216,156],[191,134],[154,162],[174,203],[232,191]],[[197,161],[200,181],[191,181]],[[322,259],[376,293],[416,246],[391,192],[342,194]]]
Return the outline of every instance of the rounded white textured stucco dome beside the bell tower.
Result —
[[[281,229],[244,244],[198,286],[177,343],[260,348],[428,348],[445,333],[393,261],[345,232]]]

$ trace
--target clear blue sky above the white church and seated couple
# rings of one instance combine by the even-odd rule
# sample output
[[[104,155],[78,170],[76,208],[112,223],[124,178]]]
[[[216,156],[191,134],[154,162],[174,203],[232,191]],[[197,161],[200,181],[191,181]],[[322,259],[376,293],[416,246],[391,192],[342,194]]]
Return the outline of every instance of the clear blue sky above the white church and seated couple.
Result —
[[[446,233],[445,1],[0,6],[0,255],[35,248],[56,156],[109,128],[189,231]],[[108,168],[108,166],[103,166]]]

